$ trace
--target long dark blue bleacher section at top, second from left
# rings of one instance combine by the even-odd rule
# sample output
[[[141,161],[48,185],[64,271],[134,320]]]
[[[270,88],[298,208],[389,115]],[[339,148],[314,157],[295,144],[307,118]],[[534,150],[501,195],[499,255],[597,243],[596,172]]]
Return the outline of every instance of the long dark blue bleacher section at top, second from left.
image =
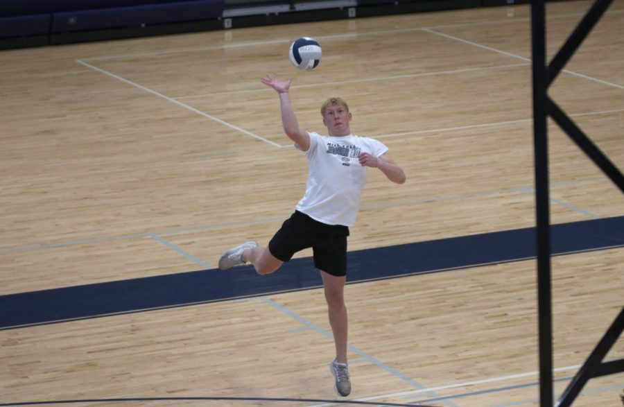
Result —
[[[52,33],[97,30],[214,19],[223,15],[223,0],[181,1],[146,6],[55,12]]]

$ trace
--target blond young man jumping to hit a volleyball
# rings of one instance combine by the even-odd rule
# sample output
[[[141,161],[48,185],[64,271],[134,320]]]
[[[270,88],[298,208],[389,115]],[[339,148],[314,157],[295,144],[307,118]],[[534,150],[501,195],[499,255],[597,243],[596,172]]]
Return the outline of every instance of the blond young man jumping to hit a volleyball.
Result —
[[[275,74],[262,78],[262,83],[279,94],[281,123],[286,135],[309,160],[306,193],[295,213],[273,236],[268,248],[254,241],[227,250],[219,259],[226,270],[252,263],[259,275],[270,274],[295,252],[313,248],[314,266],[320,270],[329,324],[336,345],[336,358],[331,362],[334,388],[346,397],[351,392],[347,367],[347,308],[344,289],[347,273],[347,236],[360,207],[360,196],[367,167],[379,168],[392,182],[403,184],[405,173],[385,155],[388,148],[381,142],[351,134],[352,114],[341,98],[329,98],[321,107],[327,136],[306,132],[297,119],[288,91],[291,80],[279,80]]]

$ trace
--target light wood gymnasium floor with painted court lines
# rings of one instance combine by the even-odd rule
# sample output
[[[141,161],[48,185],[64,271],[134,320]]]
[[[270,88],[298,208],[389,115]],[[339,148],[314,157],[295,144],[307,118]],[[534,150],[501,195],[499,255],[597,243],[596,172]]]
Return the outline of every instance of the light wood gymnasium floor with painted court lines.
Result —
[[[589,8],[548,3],[552,57]],[[304,192],[281,131],[343,96],[356,134],[408,176],[370,172],[350,250],[535,224],[530,9],[398,15],[0,53],[0,295],[216,267],[266,244]],[[314,71],[288,62],[315,37]],[[550,94],[624,168],[624,1]],[[624,215],[620,191],[551,123],[553,223]],[[309,256],[305,251],[299,257]],[[417,259],[415,259],[417,261]],[[553,258],[555,393],[623,305],[624,250]],[[218,271],[211,270],[218,279]],[[263,284],[259,277],[258,284]],[[347,286],[349,399],[537,406],[535,261]],[[0,331],[0,404],[103,398],[335,399],[321,291]],[[624,356],[620,340],[609,358]],[[574,406],[618,406],[624,376]],[[313,406],[125,401],[75,406]]]

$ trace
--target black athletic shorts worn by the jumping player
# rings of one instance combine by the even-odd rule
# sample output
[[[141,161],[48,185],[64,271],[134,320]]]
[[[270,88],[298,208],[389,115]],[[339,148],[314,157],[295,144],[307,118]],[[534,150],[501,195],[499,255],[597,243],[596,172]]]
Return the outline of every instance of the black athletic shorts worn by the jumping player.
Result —
[[[349,227],[326,225],[300,211],[284,221],[269,242],[269,251],[281,261],[307,248],[314,253],[314,267],[331,275],[347,275],[347,236]]]

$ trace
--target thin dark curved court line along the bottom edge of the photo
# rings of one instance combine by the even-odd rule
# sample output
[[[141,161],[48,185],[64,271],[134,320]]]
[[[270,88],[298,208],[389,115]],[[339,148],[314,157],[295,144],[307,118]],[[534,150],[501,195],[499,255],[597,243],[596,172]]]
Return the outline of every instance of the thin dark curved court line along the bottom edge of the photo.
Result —
[[[124,399],[84,399],[84,400],[57,400],[57,401],[19,401],[17,403],[0,403],[2,406],[42,406],[47,404],[78,404],[78,403],[123,403],[129,401],[275,401],[288,403],[330,403],[356,404],[358,406],[397,406],[397,407],[435,407],[422,404],[378,403],[356,400],[324,400],[324,399],[279,399],[269,397],[130,397]]]

